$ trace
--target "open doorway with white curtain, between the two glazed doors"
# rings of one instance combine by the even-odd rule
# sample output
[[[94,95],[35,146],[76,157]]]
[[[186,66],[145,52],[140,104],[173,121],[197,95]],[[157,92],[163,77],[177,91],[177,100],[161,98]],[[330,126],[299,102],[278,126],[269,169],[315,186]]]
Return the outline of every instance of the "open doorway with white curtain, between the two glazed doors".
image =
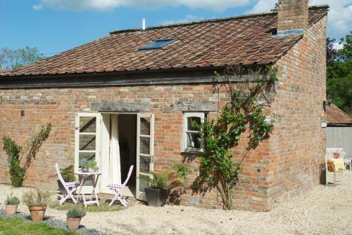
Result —
[[[136,196],[137,114],[102,114],[101,192],[111,194],[109,183],[125,182],[133,173],[122,196]]]

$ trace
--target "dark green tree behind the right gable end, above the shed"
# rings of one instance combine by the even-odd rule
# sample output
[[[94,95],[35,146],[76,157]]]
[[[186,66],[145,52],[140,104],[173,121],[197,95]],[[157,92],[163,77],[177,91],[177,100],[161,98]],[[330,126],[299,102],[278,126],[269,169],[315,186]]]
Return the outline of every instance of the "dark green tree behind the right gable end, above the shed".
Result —
[[[327,67],[327,93],[332,102],[352,115],[352,32],[340,39],[343,48]]]

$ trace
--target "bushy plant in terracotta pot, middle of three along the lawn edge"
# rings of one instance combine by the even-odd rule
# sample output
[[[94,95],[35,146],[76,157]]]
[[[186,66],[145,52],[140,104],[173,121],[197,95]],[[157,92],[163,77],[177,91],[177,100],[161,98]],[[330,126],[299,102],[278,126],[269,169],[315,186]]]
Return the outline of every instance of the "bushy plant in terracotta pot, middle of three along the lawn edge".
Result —
[[[33,222],[43,220],[46,206],[50,201],[49,191],[34,189],[23,192],[22,201],[30,209],[30,217]]]

